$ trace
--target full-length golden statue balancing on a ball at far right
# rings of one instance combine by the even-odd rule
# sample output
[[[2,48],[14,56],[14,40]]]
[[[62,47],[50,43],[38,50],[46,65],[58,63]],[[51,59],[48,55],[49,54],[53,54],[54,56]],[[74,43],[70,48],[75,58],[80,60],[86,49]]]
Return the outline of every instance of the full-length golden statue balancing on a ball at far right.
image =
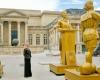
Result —
[[[88,0],[84,9],[86,13],[81,16],[81,30],[83,41],[86,45],[86,63],[80,67],[81,74],[92,74],[96,67],[92,63],[93,50],[97,45],[98,33],[96,27],[100,20],[100,14],[94,11],[93,1]]]

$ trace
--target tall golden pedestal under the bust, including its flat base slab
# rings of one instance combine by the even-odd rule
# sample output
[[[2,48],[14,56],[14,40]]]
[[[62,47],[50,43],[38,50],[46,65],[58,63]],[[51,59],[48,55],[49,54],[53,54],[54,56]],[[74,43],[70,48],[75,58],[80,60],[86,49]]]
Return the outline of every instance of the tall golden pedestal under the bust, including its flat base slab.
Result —
[[[61,36],[61,62],[66,63],[67,65],[62,64],[50,64],[50,71],[56,75],[65,74],[65,69],[75,69],[78,66],[76,65],[76,54],[75,54],[75,37],[76,30],[66,30]],[[75,66],[72,66],[75,65]]]

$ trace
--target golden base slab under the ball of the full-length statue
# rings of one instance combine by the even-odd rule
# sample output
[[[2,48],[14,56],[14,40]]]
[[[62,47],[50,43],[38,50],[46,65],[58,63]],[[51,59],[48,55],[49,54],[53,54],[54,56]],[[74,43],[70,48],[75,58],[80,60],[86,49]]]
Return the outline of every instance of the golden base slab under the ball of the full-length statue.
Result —
[[[66,69],[65,80],[100,80],[100,74],[81,75],[80,72],[75,69]]]

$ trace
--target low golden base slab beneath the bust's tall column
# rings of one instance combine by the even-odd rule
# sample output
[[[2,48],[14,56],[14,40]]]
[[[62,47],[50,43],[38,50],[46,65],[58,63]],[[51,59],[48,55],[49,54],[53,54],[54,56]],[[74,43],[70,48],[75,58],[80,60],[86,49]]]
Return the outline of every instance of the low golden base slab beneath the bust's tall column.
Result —
[[[56,75],[64,75],[65,69],[76,69],[78,66],[68,66],[61,64],[49,64],[50,72],[53,72]]]

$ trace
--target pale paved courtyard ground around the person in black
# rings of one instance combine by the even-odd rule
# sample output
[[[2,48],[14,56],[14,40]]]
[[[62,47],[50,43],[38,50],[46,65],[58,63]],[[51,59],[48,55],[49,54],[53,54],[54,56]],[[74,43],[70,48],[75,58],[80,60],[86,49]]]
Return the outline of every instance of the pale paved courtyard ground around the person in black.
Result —
[[[77,63],[84,62],[84,54],[77,54]],[[94,57],[94,63],[100,66],[100,57]],[[65,80],[64,76],[56,76],[49,72],[49,63],[59,63],[59,56],[46,55],[45,53],[32,55],[31,78],[24,78],[23,55],[0,55],[4,65],[4,75],[1,80]]]

